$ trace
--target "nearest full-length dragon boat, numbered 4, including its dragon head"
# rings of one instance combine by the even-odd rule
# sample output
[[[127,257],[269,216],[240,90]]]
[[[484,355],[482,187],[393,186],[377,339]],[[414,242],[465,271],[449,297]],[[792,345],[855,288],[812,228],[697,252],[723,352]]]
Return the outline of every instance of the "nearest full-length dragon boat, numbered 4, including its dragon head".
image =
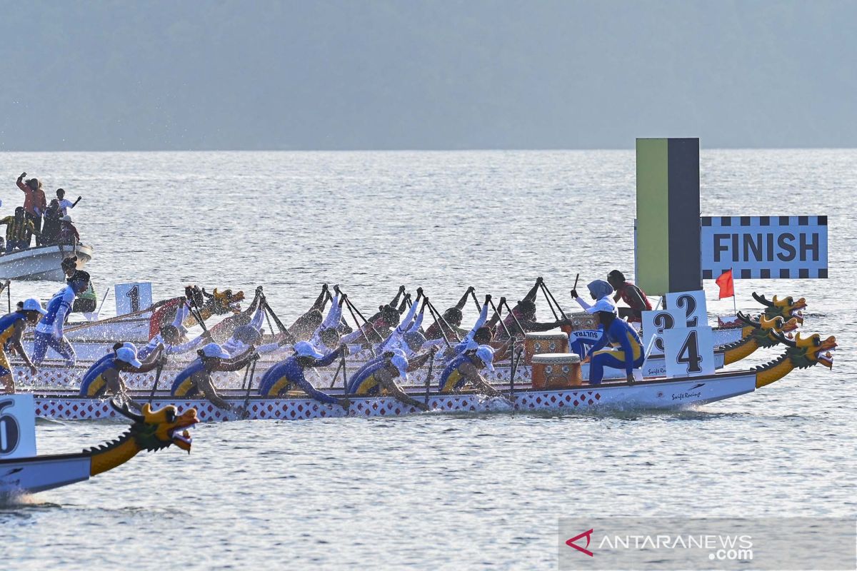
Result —
[[[607,381],[602,384],[575,384],[561,388],[536,388],[532,383],[510,382],[496,388],[507,390],[505,398],[488,398],[472,392],[438,393],[431,390],[431,380],[425,386],[408,386],[405,391],[421,399],[434,413],[469,413],[494,410],[536,412],[570,411],[574,413],[602,413],[612,410],[650,409],[670,410],[695,407],[709,402],[722,401],[733,396],[751,393],[785,377],[794,369],[805,369],[822,363],[832,368],[832,352],[836,338],[822,339],[818,334],[788,339],[782,332],[773,332],[786,350],[776,360],[754,369],[734,372],[716,372],[682,378],[647,378],[643,381]],[[426,386],[429,390],[426,390]],[[221,390],[220,395],[231,404],[227,411],[214,407],[202,399],[183,399],[165,391],[132,391],[137,401],[151,400],[152,406],[174,406],[177,410],[195,408],[199,419],[219,421],[229,419],[317,419],[328,417],[403,416],[420,413],[411,405],[390,396],[348,396],[347,408],[325,405],[299,393],[282,397],[252,396],[250,390]],[[333,396],[346,396],[342,385],[329,390]],[[36,413],[51,419],[104,419],[117,416],[109,401],[69,394],[63,391],[35,391]]]

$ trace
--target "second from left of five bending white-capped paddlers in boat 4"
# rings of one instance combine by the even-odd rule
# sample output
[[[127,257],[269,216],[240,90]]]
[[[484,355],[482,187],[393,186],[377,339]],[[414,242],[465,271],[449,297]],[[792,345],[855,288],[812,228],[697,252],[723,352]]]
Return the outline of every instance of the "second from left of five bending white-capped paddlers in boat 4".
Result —
[[[232,410],[229,402],[223,400],[217,392],[212,373],[216,371],[238,371],[247,366],[250,361],[259,359],[255,348],[250,347],[246,353],[231,358],[217,343],[208,343],[205,347],[196,350],[198,355],[190,365],[178,373],[172,382],[171,396],[205,396],[215,407],[223,410]],[[250,383],[253,382],[251,378]]]

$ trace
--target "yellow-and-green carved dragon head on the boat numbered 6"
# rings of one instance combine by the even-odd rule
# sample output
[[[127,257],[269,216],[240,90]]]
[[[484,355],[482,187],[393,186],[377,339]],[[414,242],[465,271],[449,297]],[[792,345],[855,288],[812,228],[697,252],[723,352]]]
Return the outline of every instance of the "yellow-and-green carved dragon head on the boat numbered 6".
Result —
[[[119,406],[115,401],[111,401],[111,405],[118,413],[134,420],[126,434],[134,439],[141,450],[160,450],[175,444],[178,448],[190,452],[192,439],[185,429],[199,422],[195,408],[178,414],[176,407],[172,405],[153,411],[146,403],[141,414],[136,414],[129,410],[127,404]]]

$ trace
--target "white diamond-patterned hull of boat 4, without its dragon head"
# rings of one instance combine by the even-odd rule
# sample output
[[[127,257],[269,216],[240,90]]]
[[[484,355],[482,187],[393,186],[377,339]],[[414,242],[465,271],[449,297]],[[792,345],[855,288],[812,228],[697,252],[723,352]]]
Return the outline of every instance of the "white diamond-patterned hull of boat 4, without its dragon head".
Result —
[[[411,396],[428,403],[434,412],[488,412],[488,411],[568,411],[573,413],[609,413],[633,409],[672,410],[694,407],[707,402],[722,401],[744,395],[756,389],[756,374],[752,371],[719,373],[698,378],[656,379],[636,384],[615,383],[596,386],[581,385],[560,390],[518,389],[510,397],[512,403],[500,398],[486,398],[476,394],[437,395],[424,398],[424,392],[409,390]],[[222,396],[233,409],[244,404],[243,391],[225,390]],[[335,393],[334,393],[335,394]],[[341,395],[341,390],[340,390]],[[135,396],[147,401],[147,393]],[[402,404],[392,397],[351,396],[346,412],[339,406],[325,405],[309,398],[251,397],[248,419],[303,420],[327,417],[404,416],[420,413],[416,407]],[[36,414],[50,419],[110,419],[121,418],[110,404],[102,399],[70,396],[68,394],[36,394]],[[220,410],[201,399],[181,399],[158,394],[153,407],[174,405],[179,413],[195,407],[202,422],[237,419],[236,413]]]

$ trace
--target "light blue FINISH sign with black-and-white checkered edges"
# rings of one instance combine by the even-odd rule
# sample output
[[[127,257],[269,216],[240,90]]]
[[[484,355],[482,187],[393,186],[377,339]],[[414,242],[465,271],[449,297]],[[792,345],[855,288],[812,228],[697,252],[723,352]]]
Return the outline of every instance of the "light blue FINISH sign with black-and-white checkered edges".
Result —
[[[704,216],[702,277],[827,277],[826,216]]]

